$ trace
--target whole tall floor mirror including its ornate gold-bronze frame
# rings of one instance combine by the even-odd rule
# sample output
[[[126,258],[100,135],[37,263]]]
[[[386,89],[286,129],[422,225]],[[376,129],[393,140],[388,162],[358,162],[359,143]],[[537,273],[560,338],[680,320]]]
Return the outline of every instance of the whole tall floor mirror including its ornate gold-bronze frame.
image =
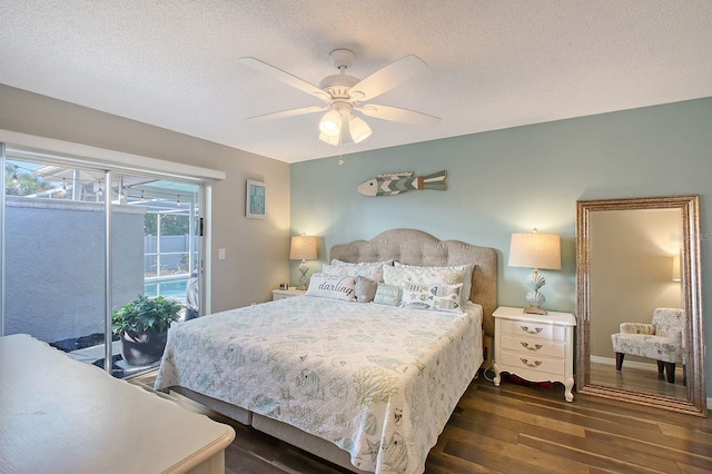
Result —
[[[577,201],[577,392],[706,416],[699,201]]]

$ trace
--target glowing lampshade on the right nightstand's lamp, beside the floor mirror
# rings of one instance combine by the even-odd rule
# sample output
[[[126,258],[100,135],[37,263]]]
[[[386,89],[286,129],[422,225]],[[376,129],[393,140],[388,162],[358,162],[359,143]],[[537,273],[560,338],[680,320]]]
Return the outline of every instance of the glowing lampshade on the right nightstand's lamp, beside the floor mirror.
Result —
[[[561,238],[556,234],[512,234],[511,267],[561,269]]]

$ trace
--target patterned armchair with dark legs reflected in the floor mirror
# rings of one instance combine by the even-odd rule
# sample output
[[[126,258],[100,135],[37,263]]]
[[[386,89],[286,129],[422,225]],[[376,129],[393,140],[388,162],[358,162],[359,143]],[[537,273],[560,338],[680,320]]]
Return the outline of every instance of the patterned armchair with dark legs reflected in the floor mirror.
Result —
[[[652,324],[622,323],[620,333],[611,335],[615,352],[615,368],[621,371],[625,354],[657,361],[657,374],[675,382],[675,364],[683,364],[685,348],[685,310],[656,308]]]

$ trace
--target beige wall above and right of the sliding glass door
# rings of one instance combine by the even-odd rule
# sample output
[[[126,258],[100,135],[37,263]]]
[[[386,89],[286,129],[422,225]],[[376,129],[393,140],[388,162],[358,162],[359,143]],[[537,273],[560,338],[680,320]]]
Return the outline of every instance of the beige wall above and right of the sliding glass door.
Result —
[[[3,85],[0,129],[225,171],[212,190],[212,310],[268,300],[288,280],[289,165]],[[245,218],[246,179],[267,186],[266,220]]]

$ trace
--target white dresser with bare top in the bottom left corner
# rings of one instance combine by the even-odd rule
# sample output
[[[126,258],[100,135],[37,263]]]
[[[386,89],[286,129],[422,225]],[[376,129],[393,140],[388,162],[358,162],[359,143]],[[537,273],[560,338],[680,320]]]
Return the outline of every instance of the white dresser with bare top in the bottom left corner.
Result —
[[[0,472],[225,472],[228,425],[27,334],[0,337]]]

